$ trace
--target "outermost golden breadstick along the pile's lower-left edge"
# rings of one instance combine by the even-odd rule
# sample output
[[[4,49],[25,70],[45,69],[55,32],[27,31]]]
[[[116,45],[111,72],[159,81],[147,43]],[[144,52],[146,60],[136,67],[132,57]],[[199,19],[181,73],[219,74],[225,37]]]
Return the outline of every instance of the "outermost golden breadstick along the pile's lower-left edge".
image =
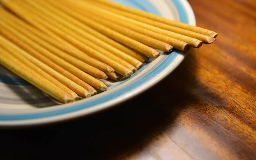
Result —
[[[4,67],[60,102],[68,103],[74,101],[74,99],[68,93],[64,92],[64,90],[61,90],[59,87],[52,84],[52,82],[40,76],[34,70],[18,61],[15,57],[3,55],[4,52],[3,49],[0,49],[0,64]]]

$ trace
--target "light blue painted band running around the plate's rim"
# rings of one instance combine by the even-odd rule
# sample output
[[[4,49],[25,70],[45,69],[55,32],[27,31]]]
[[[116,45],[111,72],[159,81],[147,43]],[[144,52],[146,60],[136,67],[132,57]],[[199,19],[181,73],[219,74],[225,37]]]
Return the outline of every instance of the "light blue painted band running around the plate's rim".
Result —
[[[115,1],[117,1],[117,0],[115,0]],[[151,5],[151,3],[148,3],[148,1],[140,0],[140,2],[141,1],[143,1],[144,6],[147,6],[147,7],[145,7],[146,9],[154,8]],[[121,0],[119,2],[123,3],[125,1]],[[133,0],[131,0],[130,2],[133,2]],[[175,5],[177,7],[177,10],[180,14],[180,19],[182,20],[182,22],[189,23],[186,10],[183,7],[180,0],[173,0],[173,2],[175,3]],[[156,9],[154,9],[154,10],[157,11]],[[147,11],[147,10],[145,10],[145,11]],[[150,10],[148,12],[151,12],[151,11],[152,10]],[[172,63],[172,61],[174,61],[174,59],[177,57],[178,54],[179,54],[179,51],[177,51],[177,50],[173,51],[170,55],[168,55],[161,62],[161,64],[159,64],[157,67],[155,67],[153,70],[151,70],[150,72],[148,72],[144,76],[135,80],[133,83],[128,84],[126,87],[124,87],[124,88],[122,88],[122,89],[120,89],[120,90],[118,90],[114,93],[108,94],[105,97],[102,97],[100,99],[95,99],[95,100],[92,100],[92,101],[87,102],[85,104],[80,104],[80,105],[72,106],[72,107],[69,107],[69,108],[60,108],[60,109],[55,110],[55,111],[45,111],[45,112],[41,112],[41,113],[30,113],[30,114],[19,114],[19,115],[0,115],[0,120],[10,121],[10,120],[26,120],[26,119],[45,118],[45,117],[57,116],[57,115],[65,114],[65,113],[71,113],[71,112],[79,111],[79,110],[82,110],[82,109],[85,109],[85,108],[93,107],[94,105],[99,105],[99,104],[105,103],[105,102],[113,99],[113,97],[117,98],[117,97],[119,97],[119,96],[121,96],[125,93],[130,92],[131,90],[134,90],[137,87],[140,87],[141,85],[145,84],[146,82],[150,81],[152,78],[157,76],[161,71],[163,71],[166,67],[168,67]]]

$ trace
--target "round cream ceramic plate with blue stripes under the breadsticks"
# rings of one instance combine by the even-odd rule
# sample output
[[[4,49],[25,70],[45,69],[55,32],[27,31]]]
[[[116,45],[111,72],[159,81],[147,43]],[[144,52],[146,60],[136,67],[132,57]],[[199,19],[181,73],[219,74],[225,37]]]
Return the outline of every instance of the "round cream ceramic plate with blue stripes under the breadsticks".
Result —
[[[114,0],[172,20],[195,25],[193,10],[186,0]],[[130,99],[171,73],[187,53],[161,52],[128,79],[104,81],[108,90],[70,104],[59,104],[28,82],[0,66],[0,126],[39,125],[89,115]]]

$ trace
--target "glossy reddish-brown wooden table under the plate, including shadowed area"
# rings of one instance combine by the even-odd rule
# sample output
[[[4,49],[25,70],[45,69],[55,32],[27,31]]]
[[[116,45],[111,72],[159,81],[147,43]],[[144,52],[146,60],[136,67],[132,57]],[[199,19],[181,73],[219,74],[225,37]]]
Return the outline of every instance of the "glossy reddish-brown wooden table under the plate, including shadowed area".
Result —
[[[214,44],[192,49],[168,78],[111,111],[0,131],[0,159],[255,160],[255,0],[189,3],[198,26],[219,33]]]

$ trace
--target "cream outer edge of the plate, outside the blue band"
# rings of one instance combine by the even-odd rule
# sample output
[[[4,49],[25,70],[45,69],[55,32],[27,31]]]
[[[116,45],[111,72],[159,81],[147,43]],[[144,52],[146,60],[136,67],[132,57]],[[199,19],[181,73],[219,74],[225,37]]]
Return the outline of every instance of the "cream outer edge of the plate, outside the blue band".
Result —
[[[170,1],[170,0],[164,0],[164,1]],[[189,24],[195,25],[195,14],[192,10],[192,7],[190,6],[189,2],[187,0],[171,0],[173,3],[181,3],[182,6],[185,9],[186,12],[186,16],[188,18],[188,22]],[[177,5],[175,4],[175,6],[177,7]],[[188,52],[186,52],[183,56],[180,56],[180,53],[177,55],[177,57],[175,57],[175,59],[172,61],[175,62],[174,66],[171,66],[171,64],[169,64],[167,67],[165,67],[163,70],[161,70],[160,73],[162,73],[160,75],[160,73],[157,75],[160,77],[154,77],[153,79],[145,82],[144,84],[140,85],[140,87],[138,87],[137,89],[133,89],[130,90],[130,92],[125,93],[122,96],[125,96],[125,98],[123,98],[122,100],[120,99],[112,99],[108,102],[106,102],[107,104],[99,107],[98,108],[94,108],[94,107],[90,107],[90,108],[84,108],[78,111],[73,111],[73,112],[69,112],[69,113],[64,113],[64,114],[60,114],[60,115],[55,115],[55,116],[48,116],[48,117],[44,117],[44,118],[35,118],[35,119],[24,119],[24,120],[0,120],[0,127],[25,127],[25,126],[34,126],[34,125],[42,125],[42,124],[49,124],[49,123],[56,123],[56,122],[61,122],[61,121],[67,121],[67,120],[71,120],[71,119],[77,119],[81,116],[88,116],[91,115],[93,113],[98,113],[99,111],[105,111],[107,109],[113,108],[116,105],[119,105],[120,103],[126,102],[129,99],[132,99],[136,96],[138,96],[139,94],[145,92],[146,90],[150,89],[152,86],[154,86],[155,84],[159,83],[161,80],[163,80],[164,78],[166,78],[166,76],[168,76],[170,73],[172,73],[177,66],[180,65],[180,63],[182,63],[182,61],[186,58],[186,55],[188,54]],[[163,73],[165,72],[165,73]],[[29,115],[28,115],[29,116]]]

